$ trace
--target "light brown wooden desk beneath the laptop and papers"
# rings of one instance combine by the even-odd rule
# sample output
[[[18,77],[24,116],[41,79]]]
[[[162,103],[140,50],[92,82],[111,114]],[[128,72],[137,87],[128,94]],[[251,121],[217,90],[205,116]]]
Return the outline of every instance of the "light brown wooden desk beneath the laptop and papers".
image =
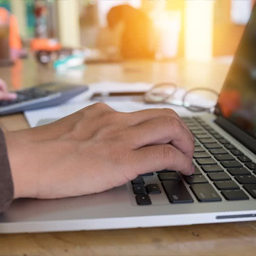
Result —
[[[101,80],[174,81],[178,85],[220,90],[228,65],[209,63],[125,62],[117,65],[89,65],[79,83]],[[54,73],[33,60],[12,68],[0,68],[0,77],[10,89],[32,86],[53,79],[74,79]],[[1,117],[6,130],[25,129],[22,114]],[[120,230],[0,234],[0,255],[255,255],[256,222],[191,225]]]

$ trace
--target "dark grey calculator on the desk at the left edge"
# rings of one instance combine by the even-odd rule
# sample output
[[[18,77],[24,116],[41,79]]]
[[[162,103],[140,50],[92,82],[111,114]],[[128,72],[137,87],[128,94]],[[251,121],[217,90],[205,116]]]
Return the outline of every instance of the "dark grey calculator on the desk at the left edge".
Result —
[[[88,90],[88,86],[63,82],[38,84],[16,91],[15,100],[0,100],[0,115],[14,114],[59,105]]]

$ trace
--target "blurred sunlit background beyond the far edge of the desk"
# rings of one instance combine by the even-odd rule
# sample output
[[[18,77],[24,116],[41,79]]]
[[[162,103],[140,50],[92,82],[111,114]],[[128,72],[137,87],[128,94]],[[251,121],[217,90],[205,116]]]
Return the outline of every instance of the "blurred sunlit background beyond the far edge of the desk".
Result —
[[[92,61],[231,56],[255,1],[0,0],[0,58],[35,52],[47,63],[75,49]]]

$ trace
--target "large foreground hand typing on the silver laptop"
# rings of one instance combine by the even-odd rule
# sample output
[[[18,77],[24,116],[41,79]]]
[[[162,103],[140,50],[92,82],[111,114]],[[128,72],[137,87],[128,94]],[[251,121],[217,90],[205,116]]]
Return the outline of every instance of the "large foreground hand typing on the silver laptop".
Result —
[[[195,171],[194,137],[170,109],[121,113],[96,103],[5,137],[15,198],[86,195],[158,170]]]

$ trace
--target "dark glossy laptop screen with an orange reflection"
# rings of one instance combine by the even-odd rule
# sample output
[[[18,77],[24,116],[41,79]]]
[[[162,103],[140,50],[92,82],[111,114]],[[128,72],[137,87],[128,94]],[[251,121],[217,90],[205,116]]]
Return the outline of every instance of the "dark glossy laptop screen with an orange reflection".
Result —
[[[256,138],[256,9],[245,29],[240,46],[218,100],[222,115]]]

